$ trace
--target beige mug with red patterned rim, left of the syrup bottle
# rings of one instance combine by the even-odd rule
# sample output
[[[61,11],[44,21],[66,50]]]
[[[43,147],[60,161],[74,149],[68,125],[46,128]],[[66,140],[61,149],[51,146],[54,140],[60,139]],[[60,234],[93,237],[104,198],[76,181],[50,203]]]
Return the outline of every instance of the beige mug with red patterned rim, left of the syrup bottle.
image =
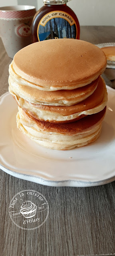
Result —
[[[35,14],[34,6],[0,7],[0,35],[10,58],[32,43],[31,25]]]

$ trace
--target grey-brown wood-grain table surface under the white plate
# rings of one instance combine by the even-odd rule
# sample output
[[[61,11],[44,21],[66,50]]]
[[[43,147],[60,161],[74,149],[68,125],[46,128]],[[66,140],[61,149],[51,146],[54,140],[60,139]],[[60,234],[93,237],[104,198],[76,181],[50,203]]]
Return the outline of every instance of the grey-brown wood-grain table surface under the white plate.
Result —
[[[115,42],[113,26],[82,26],[80,39]],[[0,95],[8,91],[10,59],[0,39]],[[106,69],[114,87],[115,70]],[[2,122],[2,120],[0,120]],[[22,190],[46,197],[49,216],[35,230],[10,219],[11,199]],[[115,182],[97,187],[48,187],[0,172],[0,256],[76,256],[115,254]]]

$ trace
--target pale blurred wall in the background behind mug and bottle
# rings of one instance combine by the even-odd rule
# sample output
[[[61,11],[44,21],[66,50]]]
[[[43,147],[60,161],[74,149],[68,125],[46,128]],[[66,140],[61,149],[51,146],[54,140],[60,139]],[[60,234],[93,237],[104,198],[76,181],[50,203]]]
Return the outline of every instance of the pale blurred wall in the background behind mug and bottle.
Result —
[[[42,0],[0,0],[0,7],[10,5],[42,7]],[[71,0],[67,5],[75,12],[81,26],[115,26],[115,0]]]

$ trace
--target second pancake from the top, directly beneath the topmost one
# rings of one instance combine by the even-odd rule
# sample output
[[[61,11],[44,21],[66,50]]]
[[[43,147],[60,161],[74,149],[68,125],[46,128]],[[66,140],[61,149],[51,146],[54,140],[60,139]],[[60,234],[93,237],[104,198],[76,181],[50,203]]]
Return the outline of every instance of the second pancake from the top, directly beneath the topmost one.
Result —
[[[50,106],[72,106],[76,103],[79,103],[86,98],[88,98],[95,89],[99,82],[99,77],[82,88],[77,88],[74,90],[58,90],[52,92],[46,92],[32,88],[29,86],[23,86],[12,79],[12,76],[9,76],[9,85],[10,89],[16,94],[17,97],[23,98],[24,100],[31,102],[33,104],[42,104]]]

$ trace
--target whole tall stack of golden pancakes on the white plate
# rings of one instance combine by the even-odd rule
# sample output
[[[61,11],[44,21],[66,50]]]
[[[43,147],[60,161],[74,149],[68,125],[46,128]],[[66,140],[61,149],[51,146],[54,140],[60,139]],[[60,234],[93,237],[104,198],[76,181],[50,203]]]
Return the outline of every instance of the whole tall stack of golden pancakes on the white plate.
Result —
[[[17,126],[41,146],[68,150],[95,141],[106,112],[105,54],[81,40],[41,41],[16,53],[9,92]]]

